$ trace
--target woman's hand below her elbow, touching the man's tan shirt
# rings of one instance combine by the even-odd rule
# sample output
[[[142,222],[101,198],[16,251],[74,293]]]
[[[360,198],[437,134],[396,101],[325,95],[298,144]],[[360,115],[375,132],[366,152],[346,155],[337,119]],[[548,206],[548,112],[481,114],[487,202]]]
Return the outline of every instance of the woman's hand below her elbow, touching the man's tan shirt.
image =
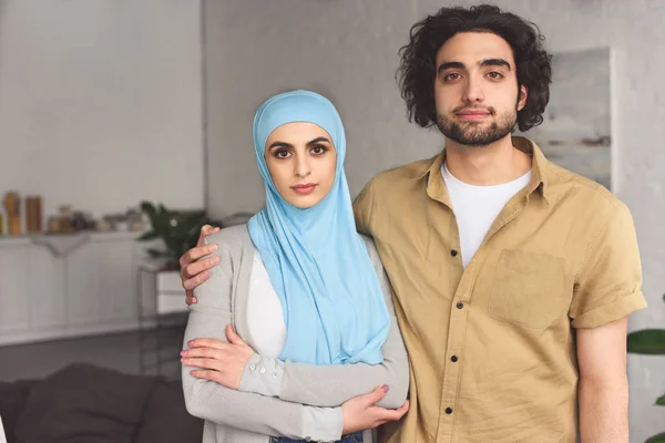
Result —
[[[358,395],[341,405],[344,412],[342,434],[375,429],[383,423],[400,420],[409,410],[407,400],[399,409],[391,410],[375,406],[388,392],[388,385],[378,387],[372,392]]]

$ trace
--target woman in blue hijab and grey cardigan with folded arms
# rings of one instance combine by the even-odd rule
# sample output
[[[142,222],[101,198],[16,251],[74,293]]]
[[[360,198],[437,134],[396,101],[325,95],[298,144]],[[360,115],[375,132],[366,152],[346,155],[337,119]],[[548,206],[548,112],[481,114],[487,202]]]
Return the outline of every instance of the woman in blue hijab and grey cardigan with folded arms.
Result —
[[[218,265],[185,332],[187,410],[204,442],[372,442],[367,430],[408,409],[408,359],[378,254],[355,229],[341,120],[294,91],[259,107],[253,133],[266,208],[205,239]]]

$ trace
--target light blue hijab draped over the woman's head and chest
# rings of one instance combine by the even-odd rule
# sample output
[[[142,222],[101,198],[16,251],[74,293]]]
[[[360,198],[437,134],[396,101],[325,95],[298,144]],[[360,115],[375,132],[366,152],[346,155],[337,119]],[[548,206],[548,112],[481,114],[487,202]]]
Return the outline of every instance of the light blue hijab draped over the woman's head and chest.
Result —
[[[293,122],[317,124],[337,151],[330,193],[307,209],[282,198],[264,157],[270,133]],[[249,235],[282,300],[287,337],[280,360],[380,363],[390,319],[367,247],[356,231],[337,110],[309,91],[283,93],[258,109],[253,132],[266,208],[249,219]]]

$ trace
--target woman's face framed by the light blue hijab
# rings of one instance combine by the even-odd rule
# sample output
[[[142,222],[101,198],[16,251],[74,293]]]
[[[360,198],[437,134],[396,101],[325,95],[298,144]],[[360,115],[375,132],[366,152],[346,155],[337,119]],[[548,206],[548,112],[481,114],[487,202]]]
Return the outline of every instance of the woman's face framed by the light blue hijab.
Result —
[[[314,123],[277,127],[264,155],[277,192],[295,207],[310,208],[332,188],[337,152],[330,135]]]

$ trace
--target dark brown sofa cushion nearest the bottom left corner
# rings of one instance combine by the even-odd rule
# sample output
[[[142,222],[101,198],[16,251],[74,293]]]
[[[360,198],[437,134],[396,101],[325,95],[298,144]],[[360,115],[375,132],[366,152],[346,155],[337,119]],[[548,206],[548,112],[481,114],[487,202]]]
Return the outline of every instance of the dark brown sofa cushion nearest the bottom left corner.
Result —
[[[132,443],[153,377],[71,364],[30,390],[18,443]]]

